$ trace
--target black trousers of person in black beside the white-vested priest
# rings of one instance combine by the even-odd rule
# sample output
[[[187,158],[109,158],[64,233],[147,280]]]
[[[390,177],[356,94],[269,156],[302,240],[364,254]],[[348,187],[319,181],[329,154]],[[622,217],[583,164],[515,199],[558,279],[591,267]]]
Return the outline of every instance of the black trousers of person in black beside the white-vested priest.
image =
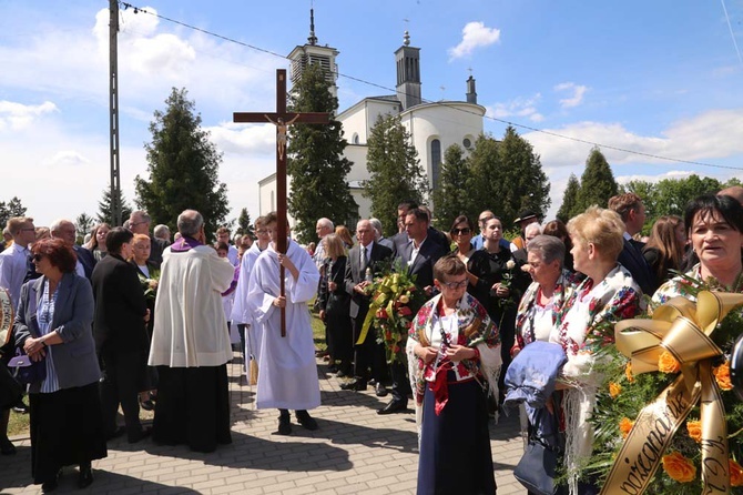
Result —
[[[101,410],[106,435],[116,431],[119,404],[124,412],[126,434],[136,437],[142,431],[140,423],[139,393],[146,373],[144,351],[102,355],[103,380],[101,381]]]

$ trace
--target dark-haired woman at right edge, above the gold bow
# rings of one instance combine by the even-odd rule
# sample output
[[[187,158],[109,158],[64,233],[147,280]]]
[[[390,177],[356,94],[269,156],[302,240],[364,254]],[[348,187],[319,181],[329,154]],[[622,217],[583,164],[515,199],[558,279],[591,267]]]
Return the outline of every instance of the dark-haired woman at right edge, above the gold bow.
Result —
[[[690,202],[684,214],[694,254],[700,262],[685,276],[675,276],[655,291],[653,302],[664,304],[681,295],[694,301],[693,281],[725,292],[743,291],[741,244],[743,243],[743,206],[726,195],[703,195]]]

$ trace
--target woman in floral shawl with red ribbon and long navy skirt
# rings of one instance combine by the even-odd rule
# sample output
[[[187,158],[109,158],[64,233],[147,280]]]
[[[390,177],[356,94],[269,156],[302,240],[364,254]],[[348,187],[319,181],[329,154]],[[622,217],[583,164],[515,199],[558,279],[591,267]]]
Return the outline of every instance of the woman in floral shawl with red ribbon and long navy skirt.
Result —
[[[416,315],[406,348],[420,432],[418,494],[493,494],[484,388],[498,383],[498,330],[467,293],[456,255],[436,262],[434,276],[440,294]]]

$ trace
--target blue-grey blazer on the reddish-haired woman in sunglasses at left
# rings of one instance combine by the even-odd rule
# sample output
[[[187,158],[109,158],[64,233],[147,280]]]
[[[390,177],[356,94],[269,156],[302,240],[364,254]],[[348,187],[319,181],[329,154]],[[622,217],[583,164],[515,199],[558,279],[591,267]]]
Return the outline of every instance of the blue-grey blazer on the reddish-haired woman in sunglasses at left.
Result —
[[[45,276],[27,282],[16,314],[16,345],[23,347],[29,337],[41,336],[37,309],[43,294]],[[88,279],[65,273],[59,284],[51,327],[57,330],[62,344],[52,345],[52,360],[60,388],[90,385],[101,377],[93,341],[93,290]],[[38,393],[40,383],[31,385]]]

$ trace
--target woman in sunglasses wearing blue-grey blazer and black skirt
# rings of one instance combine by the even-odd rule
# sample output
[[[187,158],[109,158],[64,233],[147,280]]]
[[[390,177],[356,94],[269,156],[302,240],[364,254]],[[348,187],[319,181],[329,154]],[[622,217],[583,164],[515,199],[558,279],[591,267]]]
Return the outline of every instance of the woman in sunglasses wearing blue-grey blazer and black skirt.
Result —
[[[21,289],[16,315],[16,345],[45,368],[29,390],[31,474],[48,493],[63,466],[78,464],[78,486],[84,488],[93,483],[91,462],[106,456],[93,291],[75,274],[77,256],[62,240],[41,240],[31,253],[41,276]]]

